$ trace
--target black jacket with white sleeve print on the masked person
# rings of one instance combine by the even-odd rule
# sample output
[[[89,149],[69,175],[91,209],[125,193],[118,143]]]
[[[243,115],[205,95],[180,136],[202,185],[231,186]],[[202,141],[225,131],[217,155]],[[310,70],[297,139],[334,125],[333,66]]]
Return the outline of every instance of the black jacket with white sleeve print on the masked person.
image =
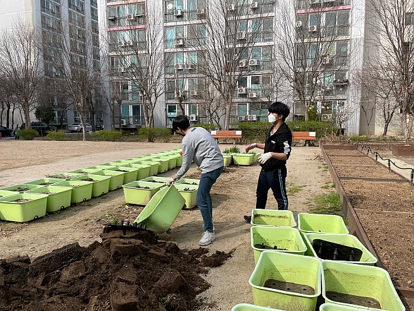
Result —
[[[282,125],[279,127],[279,129],[277,129],[276,133],[273,133],[273,135],[270,135],[271,130],[272,128],[269,129],[266,136],[266,142],[264,143],[264,153],[285,153],[289,158],[290,151],[292,151],[292,132],[290,131],[288,124],[282,123]],[[270,158],[264,164],[260,164],[260,166],[265,171],[273,171],[275,169],[286,166],[286,161]]]

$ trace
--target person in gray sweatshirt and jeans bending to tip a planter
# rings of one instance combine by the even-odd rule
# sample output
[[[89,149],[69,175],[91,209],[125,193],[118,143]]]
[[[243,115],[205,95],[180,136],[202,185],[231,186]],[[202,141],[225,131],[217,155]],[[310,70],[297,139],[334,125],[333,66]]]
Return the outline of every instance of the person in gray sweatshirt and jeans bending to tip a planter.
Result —
[[[167,185],[172,185],[172,182],[184,176],[193,161],[201,169],[196,203],[204,221],[204,234],[199,241],[199,245],[209,245],[215,240],[210,189],[223,171],[223,155],[213,136],[202,127],[190,127],[190,121],[185,115],[174,118],[172,130],[184,136],[181,143],[183,164],[175,176],[167,182]]]

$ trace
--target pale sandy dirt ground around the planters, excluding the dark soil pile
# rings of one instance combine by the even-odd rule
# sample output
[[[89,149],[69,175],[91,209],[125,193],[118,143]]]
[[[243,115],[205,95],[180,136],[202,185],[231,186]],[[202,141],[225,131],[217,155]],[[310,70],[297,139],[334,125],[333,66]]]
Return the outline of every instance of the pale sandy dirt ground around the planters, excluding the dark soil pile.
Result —
[[[231,144],[219,146],[226,149]],[[3,140],[0,141],[1,153],[8,158],[0,162],[0,187],[177,147],[180,144]],[[332,191],[326,187],[332,183],[331,176],[319,160],[319,154],[318,147],[293,147],[288,160],[287,187],[290,190],[289,209],[295,216],[308,211],[317,194]],[[208,254],[216,251],[233,251],[233,254],[224,265],[211,268],[203,276],[211,286],[199,294],[203,303],[197,310],[230,310],[237,303],[253,303],[248,279],[253,272],[254,258],[250,225],[243,220],[243,215],[250,214],[255,206],[259,170],[257,164],[228,167],[213,186],[216,240],[206,248]],[[172,176],[176,171],[160,176]],[[197,169],[192,167],[186,177],[196,176]],[[268,208],[277,208],[273,196],[268,198]],[[139,207],[125,204],[123,191],[119,189],[30,223],[0,221],[0,258],[28,255],[33,260],[71,243],[79,243],[81,247],[95,241],[101,243],[103,223],[114,218],[134,220],[139,211]],[[199,248],[202,221],[197,209],[182,210],[171,229],[171,234],[161,234],[159,240],[176,243],[180,249]]]

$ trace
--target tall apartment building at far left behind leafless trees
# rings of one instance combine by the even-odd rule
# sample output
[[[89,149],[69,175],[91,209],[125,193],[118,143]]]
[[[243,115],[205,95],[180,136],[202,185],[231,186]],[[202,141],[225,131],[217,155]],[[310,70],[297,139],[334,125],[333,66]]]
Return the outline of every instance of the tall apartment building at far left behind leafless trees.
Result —
[[[56,117],[53,125],[63,126],[79,122],[80,117],[71,104],[70,98],[63,95],[65,92],[59,88],[61,71],[52,59],[56,53],[53,48],[61,36],[68,36],[62,30],[71,34],[70,44],[73,55],[79,59],[79,66],[86,57],[93,57],[99,62],[99,21],[97,0],[31,0],[31,1],[0,1],[0,30],[8,30],[17,23],[24,23],[39,30],[44,46],[43,71],[48,91],[42,92],[40,101],[49,102],[54,108]],[[87,40],[92,40],[88,42]],[[86,48],[90,46],[91,48]],[[86,122],[94,117],[95,124],[102,124],[104,107],[99,94],[99,86],[92,90],[91,100],[94,101],[94,113],[86,111]],[[43,98],[47,97],[47,98]],[[34,117],[33,117],[34,120]]]

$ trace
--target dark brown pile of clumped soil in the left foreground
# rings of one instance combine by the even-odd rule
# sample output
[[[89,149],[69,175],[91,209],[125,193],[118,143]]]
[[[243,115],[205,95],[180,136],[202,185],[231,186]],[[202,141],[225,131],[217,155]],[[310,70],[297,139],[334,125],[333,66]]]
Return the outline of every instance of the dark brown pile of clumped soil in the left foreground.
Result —
[[[106,227],[102,243],[73,243],[30,261],[0,261],[0,310],[196,310],[201,274],[232,252],[179,249],[152,232]]]

